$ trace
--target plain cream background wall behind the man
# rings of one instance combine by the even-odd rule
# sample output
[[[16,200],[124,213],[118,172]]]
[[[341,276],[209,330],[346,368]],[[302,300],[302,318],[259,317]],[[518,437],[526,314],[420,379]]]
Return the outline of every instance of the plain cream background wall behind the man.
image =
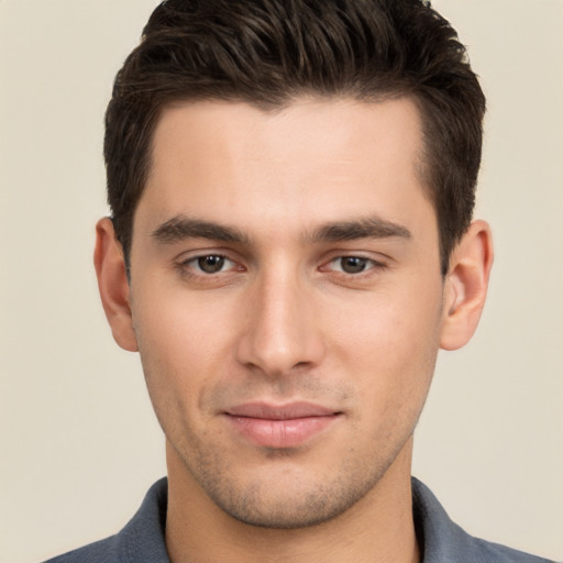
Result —
[[[135,354],[97,295],[102,115],[155,0],[0,0],[0,561],[119,530],[164,475]],[[476,536],[563,559],[563,1],[442,0],[488,96],[496,264],[442,354],[413,473]]]

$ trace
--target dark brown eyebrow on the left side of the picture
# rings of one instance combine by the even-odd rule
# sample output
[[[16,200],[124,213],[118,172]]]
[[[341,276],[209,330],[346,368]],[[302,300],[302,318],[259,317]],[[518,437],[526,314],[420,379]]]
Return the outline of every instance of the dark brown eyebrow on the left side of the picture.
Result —
[[[169,219],[158,227],[152,236],[162,244],[174,244],[186,239],[209,239],[240,244],[250,242],[249,236],[239,229],[186,216]]]

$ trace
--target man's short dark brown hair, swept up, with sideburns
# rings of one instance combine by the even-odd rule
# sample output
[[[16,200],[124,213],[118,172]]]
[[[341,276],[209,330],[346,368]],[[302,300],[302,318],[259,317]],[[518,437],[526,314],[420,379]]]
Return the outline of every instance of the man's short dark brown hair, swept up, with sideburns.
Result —
[[[106,114],[108,201],[128,260],[163,107],[298,96],[410,96],[424,132],[424,186],[442,273],[470,225],[485,97],[455,30],[421,0],[168,0],[118,73]]]

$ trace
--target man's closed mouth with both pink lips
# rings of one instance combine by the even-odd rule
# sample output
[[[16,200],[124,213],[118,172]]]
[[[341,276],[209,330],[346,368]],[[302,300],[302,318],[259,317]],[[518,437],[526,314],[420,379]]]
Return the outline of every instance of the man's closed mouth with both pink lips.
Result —
[[[256,445],[297,448],[328,430],[343,413],[310,402],[274,406],[249,402],[223,413],[234,430]]]

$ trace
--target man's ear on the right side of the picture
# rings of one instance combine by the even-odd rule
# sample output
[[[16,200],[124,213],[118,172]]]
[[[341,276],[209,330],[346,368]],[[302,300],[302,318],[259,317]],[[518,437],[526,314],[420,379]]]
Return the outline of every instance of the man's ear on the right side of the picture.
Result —
[[[440,347],[465,345],[481,319],[493,266],[493,238],[485,221],[474,221],[450,256],[444,284]]]

